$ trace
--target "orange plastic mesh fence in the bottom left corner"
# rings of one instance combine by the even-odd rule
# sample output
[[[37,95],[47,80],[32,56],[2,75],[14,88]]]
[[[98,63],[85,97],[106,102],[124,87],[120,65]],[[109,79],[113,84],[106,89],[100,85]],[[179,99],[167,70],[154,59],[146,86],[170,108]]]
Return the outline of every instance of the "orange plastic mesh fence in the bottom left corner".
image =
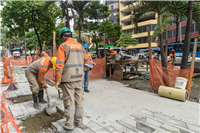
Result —
[[[7,94],[8,93],[9,92],[7,92]],[[0,93],[0,133],[13,132],[12,126],[14,126],[17,133],[21,133],[21,131],[15,123],[15,118],[12,117],[12,115],[6,108],[6,101],[4,101],[5,98],[3,98],[3,94],[6,95],[6,93]]]

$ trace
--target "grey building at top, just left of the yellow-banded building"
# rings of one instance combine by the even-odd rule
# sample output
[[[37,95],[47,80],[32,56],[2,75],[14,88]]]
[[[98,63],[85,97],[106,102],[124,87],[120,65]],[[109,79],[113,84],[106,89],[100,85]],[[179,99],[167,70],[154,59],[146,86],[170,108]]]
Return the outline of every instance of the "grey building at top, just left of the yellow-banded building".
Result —
[[[105,4],[108,5],[110,12],[106,21],[119,24],[119,0],[105,0]]]

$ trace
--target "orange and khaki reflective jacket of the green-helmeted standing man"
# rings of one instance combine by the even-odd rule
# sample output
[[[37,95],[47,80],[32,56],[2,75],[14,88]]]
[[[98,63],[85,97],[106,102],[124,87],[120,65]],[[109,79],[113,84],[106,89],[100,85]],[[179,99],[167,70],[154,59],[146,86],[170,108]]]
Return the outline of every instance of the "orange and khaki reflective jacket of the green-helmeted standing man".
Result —
[[[55,82],[76,82],[83,80],[84,59],[88,58],[83,46],[73,38],[62,43],[57,51]]]

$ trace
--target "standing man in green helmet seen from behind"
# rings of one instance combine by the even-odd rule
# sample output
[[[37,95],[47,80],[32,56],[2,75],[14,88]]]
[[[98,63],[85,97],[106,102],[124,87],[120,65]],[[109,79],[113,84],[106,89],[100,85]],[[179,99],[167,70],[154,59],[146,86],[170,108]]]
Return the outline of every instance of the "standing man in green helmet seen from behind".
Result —
[[[70,29],[62,28],[60,30],[60,38],[63,43],[57,51],[55,87],[57,90],[62,89],[63,91],[66,116],[64,128],[70,133],[73,132],[75,126],[81,127],[83,121],[83,90],[81,85],[84,60],[88,56],[85,54],[84,47],[72,38]],[[59,83],[60,80],[61,84]]]

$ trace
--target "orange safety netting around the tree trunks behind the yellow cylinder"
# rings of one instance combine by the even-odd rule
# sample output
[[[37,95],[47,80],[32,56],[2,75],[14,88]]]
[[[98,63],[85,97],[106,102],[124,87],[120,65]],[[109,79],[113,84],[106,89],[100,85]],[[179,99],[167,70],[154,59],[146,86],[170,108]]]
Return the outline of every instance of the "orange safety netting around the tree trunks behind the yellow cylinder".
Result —
[[[174,87],[176,77],[188,79],[186,90],[190,96],[190,84],[193,77],[194,67],[188,69],[179,69],[170,63],[167,63],[167,68],[162,67],[160,60],[150,59],[150,81],[151,87],[158,89],[161,85]]]

